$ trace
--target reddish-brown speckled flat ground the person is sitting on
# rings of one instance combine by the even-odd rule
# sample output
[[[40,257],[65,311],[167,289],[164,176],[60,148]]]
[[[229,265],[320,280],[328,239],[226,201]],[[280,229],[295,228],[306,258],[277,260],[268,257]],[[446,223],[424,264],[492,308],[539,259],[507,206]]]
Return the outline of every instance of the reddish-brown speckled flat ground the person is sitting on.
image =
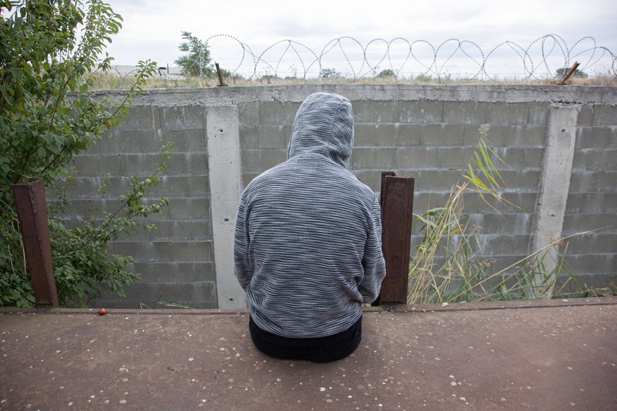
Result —
[[[617,410],[617,298],[367,309],[328,364],[246,311],[0,311],[1,410]]]

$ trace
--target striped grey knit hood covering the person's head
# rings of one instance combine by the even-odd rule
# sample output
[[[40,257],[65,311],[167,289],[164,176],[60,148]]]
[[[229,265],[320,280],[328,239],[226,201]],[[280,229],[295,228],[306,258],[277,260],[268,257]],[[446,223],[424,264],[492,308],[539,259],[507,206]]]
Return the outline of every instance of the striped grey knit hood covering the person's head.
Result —
[[[308,96],[295,114],[287,158],[317,153],[347,168],[352,148],[351,102],[331,93]]]

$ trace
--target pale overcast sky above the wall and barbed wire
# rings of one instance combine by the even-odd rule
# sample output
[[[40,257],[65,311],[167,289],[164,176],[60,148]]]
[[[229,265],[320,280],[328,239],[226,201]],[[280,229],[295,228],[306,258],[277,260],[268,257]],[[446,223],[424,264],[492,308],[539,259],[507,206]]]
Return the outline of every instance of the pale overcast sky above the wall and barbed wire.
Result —
[[[159,66],[175,66],[175,59],[182,54],[178,50],[182,42],[182,31],[192,32],[202,40],[210,39],[208,46],[213,61],[230,70],[238,68],[245,75],[254,67],[254,59],[245,54],[243,64],[240,65],[243,57],[240,43],[249,47],[255,56],[262,55],[267,49],[263,55],[264,61],[272,67],[278,64],[276,69],[281,72],[293,71],[292,66],[295,66],[299,75],[302,75],[302,64],[305,64],[306,69],[315,61],[312,53],[319,55],[324,49],[328,52],[322,58],[322,64],[325,67],[336,67],[340,72],[367,70],[366,65],[361,66],[363,48],[372,65],[379,64],[380,69],[390,68],[387,61],[380,63],[380,59],[387,42],[398,37],[406,41],[395,40],[390,44],[390,54],[394,60],[392,68],[395,70],[408,54],[409,44],[416,42],[412,50],[420,61],[414,62],[414,68],[409,68],[411,66],[408,63],[409,67],[405,69],[417,71],[418,64],[430,66],[433,63],[435,54],[431,47],[437,49],[452,38],[470,42],[464,44],[464,51],[471,57],[464,56],[462,50],[459,50],[446,63],[447,56],[457,45],[457,42],[447,42],[437,54],[437,63],[449,71],[473,71],[471,59],[481,61],[481,53],[486,58],[491,50],[507,41],[527,49],[544,35],[563,38],[565,46],[573,48],[570,54],[594,47],[589,39],[576,44],[587,36],[594,38],[595,45],[606,47],[617,54],[617,5],[614,0],[107,2],[124,19],[122,31],[114,36],[112,45],[107,49],[114,56],[115,64],[122,65],[134,65],[139,60],[152,59]],[[226,36],[211,38],[216,35]],[[332,42],[341,37],[351,39]],[[375,39],[385,41],[371,42]],[[288,48],[290,43],[283,40],[293,42],[295,50],[300,54],[299,59]],[[547,50],[553,44],[552,41],[549,43],[545,44]],[[351,66],[345,63],[341,48],[351,60]],[[495,71],[517,71],[523,64],[516,50],[517,47],[500,46],[487,59],[487,63],[493,63]],[[537,42],[531,50],[541,56],[541,43]],[[510,64],[503,64],[505,60],[498,64],[498,56],[510,59]],[[559,47],[553,49],[552,56],[559,56],[560,61],[563,61]],[[592,57],[587,52],[577,56],[577,60],[587,64],[589,58],[595,59],[598,56],[595,54]],[[532,57],[534,65],[541,64],[539,57]],[[399,58],[401,60],[397,63],[396,59]],[[471,61],[471,68],[469,64],[457,64],[462,59],[466,59],[467,63]],[[594,68],[606,70],[611,64],[610,57],[605,56]]]

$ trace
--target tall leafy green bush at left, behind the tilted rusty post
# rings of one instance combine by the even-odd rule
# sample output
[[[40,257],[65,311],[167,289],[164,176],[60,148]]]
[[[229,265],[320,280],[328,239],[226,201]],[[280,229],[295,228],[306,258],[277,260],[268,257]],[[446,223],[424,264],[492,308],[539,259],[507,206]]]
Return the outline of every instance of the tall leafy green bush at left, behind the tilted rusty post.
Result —
[[[90,76],[110,67],[101,58],[122,18],[100,0],[0,1],[0,305],[34,302],[11,184],[41,178],[49,191],[64,192],[71,162],[117,126],[155,63],[140,62],[126,95],[96,99],[88,93]],[[163,209],[161,198],[144,205],[148,188],[168,165],[172,148],[165,145],[153,174],[134,177],[120,198],[122,207],[102,218],[86,218],[69,228],[66,200],[49,205],[52,263],[61,304],[83,306],[102,288],[122,295],[137,275],[126,268],[129,256],[110,256],[107,242],[134,229],[134,218]]]

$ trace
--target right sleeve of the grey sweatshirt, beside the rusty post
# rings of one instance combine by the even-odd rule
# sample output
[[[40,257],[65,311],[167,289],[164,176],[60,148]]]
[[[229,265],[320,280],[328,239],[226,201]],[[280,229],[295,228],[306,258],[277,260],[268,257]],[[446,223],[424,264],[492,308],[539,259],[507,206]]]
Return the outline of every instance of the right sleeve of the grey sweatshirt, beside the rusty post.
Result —
[[[372,218],[370,221],[368,238],[364,247],[362,260],[364,277],[358,285],[358,290],[365,303],[377,299],[386,275],[386,263],[382,253],[382,217],[377,196],[373,199]]]

